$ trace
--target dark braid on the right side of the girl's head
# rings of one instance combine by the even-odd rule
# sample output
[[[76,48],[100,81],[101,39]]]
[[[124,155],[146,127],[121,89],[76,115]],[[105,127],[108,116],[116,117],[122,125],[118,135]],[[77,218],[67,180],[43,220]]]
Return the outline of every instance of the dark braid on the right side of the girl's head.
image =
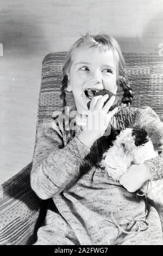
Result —
[[[121,102],[130,106],[133,101],[134,94],[125,76],[122,76],[122,78],[120,79],[120,86],[122,87],[124,92]]]

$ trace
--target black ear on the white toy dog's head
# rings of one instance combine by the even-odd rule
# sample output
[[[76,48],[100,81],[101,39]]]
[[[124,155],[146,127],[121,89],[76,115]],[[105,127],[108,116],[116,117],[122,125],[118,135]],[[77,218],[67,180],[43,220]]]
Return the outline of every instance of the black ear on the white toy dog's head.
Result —
[[[148,133],[143,128],[134,128],[132,132],[132,136],[134,137],[136,146],[141,146],[141,145],[143,146],[149,141]]]

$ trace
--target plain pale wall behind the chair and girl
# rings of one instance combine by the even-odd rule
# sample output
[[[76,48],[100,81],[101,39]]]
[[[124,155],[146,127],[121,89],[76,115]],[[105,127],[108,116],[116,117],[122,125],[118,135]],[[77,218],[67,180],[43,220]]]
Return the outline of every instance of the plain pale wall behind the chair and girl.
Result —
[[[41,62],[79,33],[107,32],[123,52],[158,52],[162,0],[0,0],[0,183],[32,160]]]

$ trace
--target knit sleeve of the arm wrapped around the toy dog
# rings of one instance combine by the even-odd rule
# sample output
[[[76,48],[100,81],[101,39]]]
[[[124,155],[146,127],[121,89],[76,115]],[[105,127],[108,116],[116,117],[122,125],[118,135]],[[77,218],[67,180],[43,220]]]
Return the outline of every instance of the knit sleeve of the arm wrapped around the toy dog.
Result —
[[[163,123],[159,116],[150,107],[144,108],[122,108],[116,115],[116,128],[143,127],[147,130],[154,148],[162,151],[163,145]],[[148,166],[152,180],[163,178],[163,154],[145,161]]]

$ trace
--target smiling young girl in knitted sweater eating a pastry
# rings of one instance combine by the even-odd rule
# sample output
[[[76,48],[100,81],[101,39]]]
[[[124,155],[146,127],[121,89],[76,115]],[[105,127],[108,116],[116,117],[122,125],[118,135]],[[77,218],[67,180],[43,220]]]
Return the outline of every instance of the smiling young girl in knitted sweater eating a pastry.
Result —
[[[71,47],[62,71],[60,97],[65,107],[65,90],[72,91],[76,105],[70,106],[70,112],[77,112],[76,126],[65,129],[63,108],[59,116],[45,118],[38,129],[31,186],[41,199],[53,198],[56,209],[47,210],[35,245],[162,245],[158,212],[150,206],[146,215],[145,200],[130,193],[163,177],[162,158],[132,165],[121,183],[96,165],[107,148],[103,135],[117,108],[109,111],[115,98],[104,105],[105,95],[93,97],[88,110],[90,99],[84,91],[105,89],[116,94],[122,86],[122,102],[130,102],[120,46],[109,35],[87,33]],[[138,118],[143,112],[135,109],[134,115]],[[98,129],[92,116],[100,122]]]

